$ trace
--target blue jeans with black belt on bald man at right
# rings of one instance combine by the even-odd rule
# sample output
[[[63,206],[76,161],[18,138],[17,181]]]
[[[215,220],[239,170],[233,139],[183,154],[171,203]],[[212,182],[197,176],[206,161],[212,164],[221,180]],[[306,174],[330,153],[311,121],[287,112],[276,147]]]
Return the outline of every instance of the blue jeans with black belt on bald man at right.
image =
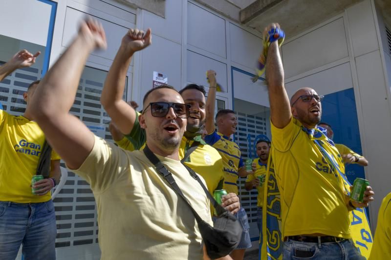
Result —
[[[353,241],[312,243],[288,240],[284,242],[284,260],[364,260]]]

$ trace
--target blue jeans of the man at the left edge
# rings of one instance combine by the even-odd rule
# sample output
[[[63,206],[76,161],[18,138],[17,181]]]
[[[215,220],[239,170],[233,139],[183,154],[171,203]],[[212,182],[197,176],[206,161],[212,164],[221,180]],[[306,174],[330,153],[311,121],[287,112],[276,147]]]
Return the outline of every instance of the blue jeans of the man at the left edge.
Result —
[[[25,260],[56,259],[56,215],[53,201],[0,201],[0,259],[15,260],[19,248]]]

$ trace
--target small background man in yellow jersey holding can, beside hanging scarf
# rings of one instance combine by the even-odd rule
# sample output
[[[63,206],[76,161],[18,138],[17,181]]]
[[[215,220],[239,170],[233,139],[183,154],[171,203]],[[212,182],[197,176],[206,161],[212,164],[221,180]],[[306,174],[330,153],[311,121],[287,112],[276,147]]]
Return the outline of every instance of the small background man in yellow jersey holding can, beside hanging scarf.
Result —
[[[253,168],[256,170],[247,175],[246,183],[244,187],[247,191],[250,191],[254,188],[258,191],[258,202],[257,202],[257,225],[258,230],[260,231],[260,236],[262,235],[262,206],[263,206],[263,191],[266,178],[266,169],[267,169],[267,160],[269,159],[270,152],[270,141],[266,139],[261,139],[257,141],[255,145],[256,152],[258,155],[257,159],[253,160]]]

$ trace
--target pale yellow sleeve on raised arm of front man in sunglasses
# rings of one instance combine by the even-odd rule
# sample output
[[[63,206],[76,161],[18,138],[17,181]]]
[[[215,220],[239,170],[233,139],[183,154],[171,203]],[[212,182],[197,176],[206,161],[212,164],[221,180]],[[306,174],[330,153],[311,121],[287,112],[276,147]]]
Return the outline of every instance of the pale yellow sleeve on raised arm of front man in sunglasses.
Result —
[[[125,150],[95,136],[94,147],[79,169],[72,170],[87,180],[94,192],[104,192],[129,172],[130,162]]]

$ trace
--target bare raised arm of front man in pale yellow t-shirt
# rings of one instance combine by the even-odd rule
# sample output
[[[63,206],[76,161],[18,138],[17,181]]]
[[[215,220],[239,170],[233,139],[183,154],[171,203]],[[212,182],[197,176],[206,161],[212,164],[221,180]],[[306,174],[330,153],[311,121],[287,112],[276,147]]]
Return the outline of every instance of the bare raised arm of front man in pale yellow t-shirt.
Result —
[[[69,168],[81,166],[94,145],[87,126],[69,114],[87,57],[95,48],[106,48],[106,36],[96,20],[83,21],[71,45],[34,92],[31,113],[53,149]]]

